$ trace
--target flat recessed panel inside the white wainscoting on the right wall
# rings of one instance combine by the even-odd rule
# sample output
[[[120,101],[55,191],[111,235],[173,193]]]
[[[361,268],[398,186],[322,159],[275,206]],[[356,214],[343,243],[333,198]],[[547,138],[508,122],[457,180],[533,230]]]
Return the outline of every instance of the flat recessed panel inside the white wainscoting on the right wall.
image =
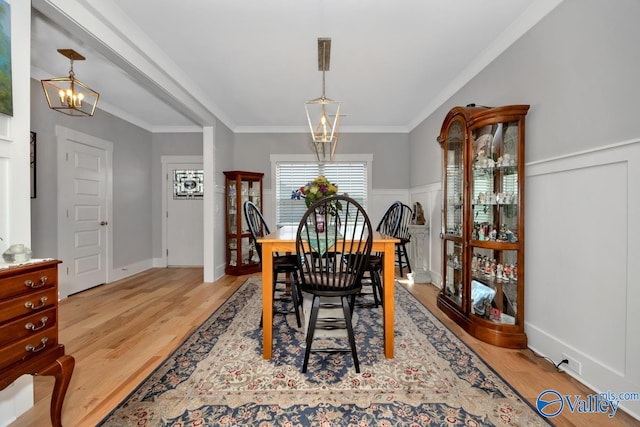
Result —
[[[627,163],[527,179],[527,319],[624,371]]]

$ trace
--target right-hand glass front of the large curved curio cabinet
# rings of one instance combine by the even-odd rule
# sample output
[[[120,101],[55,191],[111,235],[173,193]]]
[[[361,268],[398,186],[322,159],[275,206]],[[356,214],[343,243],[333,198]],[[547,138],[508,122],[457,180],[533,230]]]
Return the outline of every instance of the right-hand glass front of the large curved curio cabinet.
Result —
[[[472,131],[471,314],[514,325],[518,298],[518,122]]]

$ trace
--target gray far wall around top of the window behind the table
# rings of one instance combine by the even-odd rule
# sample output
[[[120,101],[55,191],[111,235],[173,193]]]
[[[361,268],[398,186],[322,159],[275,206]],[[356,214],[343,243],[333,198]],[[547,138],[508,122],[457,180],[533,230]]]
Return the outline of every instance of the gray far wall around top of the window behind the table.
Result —
[[[271,187],[271,154],[312,154],[309,135],[302,133],[236,134],[234,169],[263,172]],[[372,188],[409,188],[409,136],[407,134],[343,133],[340,154],[373,154]]]

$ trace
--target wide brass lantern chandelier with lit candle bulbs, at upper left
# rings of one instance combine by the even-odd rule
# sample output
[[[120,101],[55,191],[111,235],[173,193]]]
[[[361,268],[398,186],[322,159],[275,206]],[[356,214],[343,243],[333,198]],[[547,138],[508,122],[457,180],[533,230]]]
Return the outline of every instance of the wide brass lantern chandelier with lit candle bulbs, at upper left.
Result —
[[[69,116],[93,116],[100,94],[77,80],[73,72],[73,61],[83,61],[84,56],[73,49],[58,49],[58,52],[69,58],[71,68],[69,77],[56,77],[40,82],[49,108]]]

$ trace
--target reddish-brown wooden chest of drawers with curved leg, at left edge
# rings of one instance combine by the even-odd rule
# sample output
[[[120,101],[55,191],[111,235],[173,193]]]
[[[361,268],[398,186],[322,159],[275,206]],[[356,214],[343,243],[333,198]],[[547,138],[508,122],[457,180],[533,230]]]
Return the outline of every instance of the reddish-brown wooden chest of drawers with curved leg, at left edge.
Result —
[[[56,427],[62,425],[62,403],[75,365],[58,342],[59,263],[0,268],[0,390],[24,374],[54,376],[51,424]]]

